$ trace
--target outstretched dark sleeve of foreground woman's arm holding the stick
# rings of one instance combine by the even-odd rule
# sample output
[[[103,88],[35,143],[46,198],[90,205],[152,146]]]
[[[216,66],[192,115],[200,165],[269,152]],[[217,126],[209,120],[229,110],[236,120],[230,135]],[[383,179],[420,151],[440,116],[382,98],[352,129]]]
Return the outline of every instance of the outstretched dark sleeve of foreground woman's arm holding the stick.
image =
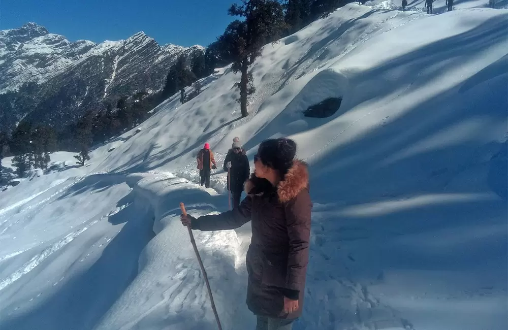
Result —
[[[220,214],[204,215],[193,220],[192,228],[203,230],[226,230],[236,229],[241,227],[246,222],[250,221],[250,214],[252,208],[252,197],[247,196],[240,203],[240,206],[232,211],[223,212]]]

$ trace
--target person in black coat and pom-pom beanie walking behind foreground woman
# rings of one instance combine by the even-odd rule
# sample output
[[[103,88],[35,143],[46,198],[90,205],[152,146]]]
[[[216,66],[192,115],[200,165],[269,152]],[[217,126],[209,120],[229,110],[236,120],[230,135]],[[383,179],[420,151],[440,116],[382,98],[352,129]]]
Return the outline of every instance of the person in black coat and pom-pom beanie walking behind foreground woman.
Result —
[[[239,138],[233,139],[233,145],[224,159],[224,171],[228,172],[228,190],[231,191],[233,209],[240,205],[243,184],[249,178],[250,166]]]

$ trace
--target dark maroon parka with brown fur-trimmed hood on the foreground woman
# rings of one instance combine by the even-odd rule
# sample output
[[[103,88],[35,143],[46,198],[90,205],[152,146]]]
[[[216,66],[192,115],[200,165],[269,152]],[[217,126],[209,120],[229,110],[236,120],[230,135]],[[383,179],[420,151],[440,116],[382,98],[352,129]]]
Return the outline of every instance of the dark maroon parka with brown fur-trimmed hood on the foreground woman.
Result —
[[[307,166],[295,160],[277,187],[254,174],[245,183],[247,197],[237,209],[199,217],[193,229],[235,229],[252,221],[247,251],[247,306],[256,315],[297,318],[302,313],[309,257],[311,201]],[[299,309],[284,313],[284,296]]]

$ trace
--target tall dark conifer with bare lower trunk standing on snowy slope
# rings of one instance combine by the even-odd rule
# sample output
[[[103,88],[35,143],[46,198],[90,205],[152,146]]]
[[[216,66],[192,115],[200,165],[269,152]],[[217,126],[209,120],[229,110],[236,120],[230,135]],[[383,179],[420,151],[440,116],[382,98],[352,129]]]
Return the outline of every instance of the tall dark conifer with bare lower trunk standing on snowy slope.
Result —
[[[241,73],[238,85],[240,110],[242,117],[246,117],[247,97],[249,91],[254,90],[248,69],[261,55],[263,46],[278,39],[285,26],[284,15],[282,6],[275,0],[242,0],[242,5],[232,5],[228,13],[245,19],[231,22],[219,41],[229,45],[229,54],[233,58],[232,69],[235,73]]]

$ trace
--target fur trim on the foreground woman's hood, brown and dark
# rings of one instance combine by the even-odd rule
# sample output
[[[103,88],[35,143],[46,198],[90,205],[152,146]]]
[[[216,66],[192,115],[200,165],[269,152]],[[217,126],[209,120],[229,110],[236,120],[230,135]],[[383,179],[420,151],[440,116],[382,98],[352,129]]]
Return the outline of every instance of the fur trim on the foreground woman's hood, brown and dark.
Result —
[[[245,182],[245,192],[251,195],[262,195],[264,192],[274,189],[272,184],[258,178],[254,173]],[[287,203],[294,199],[300,191],[309,189],[309,173],[307,164],[303,160],[295,160],[293,166],[285,175],[284,180],[277,185],[277,195],[280,203]]]

